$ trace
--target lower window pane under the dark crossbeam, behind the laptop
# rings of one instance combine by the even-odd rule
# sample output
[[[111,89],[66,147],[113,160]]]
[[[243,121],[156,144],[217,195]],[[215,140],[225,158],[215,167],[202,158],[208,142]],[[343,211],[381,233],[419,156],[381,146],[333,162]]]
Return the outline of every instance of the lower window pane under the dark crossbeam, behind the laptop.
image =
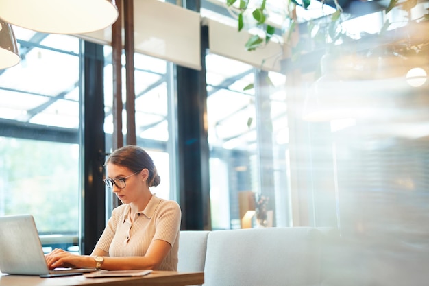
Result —
[[[79,231],[79,146],[0,137],[0,215],[34,215],[40,234]]]

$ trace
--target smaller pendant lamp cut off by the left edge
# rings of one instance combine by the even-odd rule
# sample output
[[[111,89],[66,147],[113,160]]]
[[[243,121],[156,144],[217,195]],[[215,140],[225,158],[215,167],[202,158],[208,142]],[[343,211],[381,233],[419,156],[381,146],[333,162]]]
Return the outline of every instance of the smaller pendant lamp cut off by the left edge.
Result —
[[[13,67],[20,60],[14,31],[10,23],[0,19],[0,69]]]

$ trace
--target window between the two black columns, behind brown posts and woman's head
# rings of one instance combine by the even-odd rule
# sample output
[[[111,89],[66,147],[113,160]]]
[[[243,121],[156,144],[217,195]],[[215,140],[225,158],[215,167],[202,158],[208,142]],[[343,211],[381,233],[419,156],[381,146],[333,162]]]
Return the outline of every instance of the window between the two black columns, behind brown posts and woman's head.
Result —
[[[112,64],[110,54],[112,47],[105,47],[105,112],[104,132],[106,132],[106,148],[112,150],[113,133],[113,93],[112,93]],[[145,56],[141,53],[134,54],[134,91],[136,94],[135,117],[137,145],[143,147],[154,160],[161,183],[151,189],[160,198],[175,200],[176,188],[170,182],[174,182],[174,171],[171,170],[175,164],[171,152],[174,149],[171,130],[171,118],[174,117],[174,108],[170,108],[173,101],[173,93],[169,82],[171,82],[171,63]],[[122,79],[123,100],[123,134],[127,132],[126,122],[126,78],[123,68]],[[124,138],[125,140],[125,138]],[[124,143],[125,144],[125,143]],[[107,189],[106,191],[111,191]],[[108,196],[109,198],[110,196]],[[110,204],[111,205],[111,204]],[[108,210],[110,212],[110,210]]]

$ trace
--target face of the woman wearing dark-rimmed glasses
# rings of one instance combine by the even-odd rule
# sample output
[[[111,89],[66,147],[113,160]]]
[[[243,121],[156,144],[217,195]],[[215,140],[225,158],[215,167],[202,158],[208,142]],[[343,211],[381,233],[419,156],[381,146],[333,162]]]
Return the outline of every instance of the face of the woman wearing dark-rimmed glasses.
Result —
[[[115,180],[117,184],[121,183],[117,179],[127,177],[125,178],[125,188],[121,189],[117,184],[113,184],[112,190],[123,204],[134,202],[136,198],[140,197],[140,191],[143,190],[143,176],[141,171],[133,175],[134,172],[127,167],[112,163],[108,163],[106,169],[108,178]]]

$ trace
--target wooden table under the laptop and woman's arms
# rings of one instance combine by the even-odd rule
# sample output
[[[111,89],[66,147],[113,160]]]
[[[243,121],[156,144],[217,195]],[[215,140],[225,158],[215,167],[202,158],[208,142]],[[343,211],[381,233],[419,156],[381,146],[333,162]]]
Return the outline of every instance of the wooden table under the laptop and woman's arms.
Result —
[[[82,275],[55,278],[0,275],[0,286],[186,286],[203,283],[204,272],[153,271],[146,276],[115,278],[85,278]]]

